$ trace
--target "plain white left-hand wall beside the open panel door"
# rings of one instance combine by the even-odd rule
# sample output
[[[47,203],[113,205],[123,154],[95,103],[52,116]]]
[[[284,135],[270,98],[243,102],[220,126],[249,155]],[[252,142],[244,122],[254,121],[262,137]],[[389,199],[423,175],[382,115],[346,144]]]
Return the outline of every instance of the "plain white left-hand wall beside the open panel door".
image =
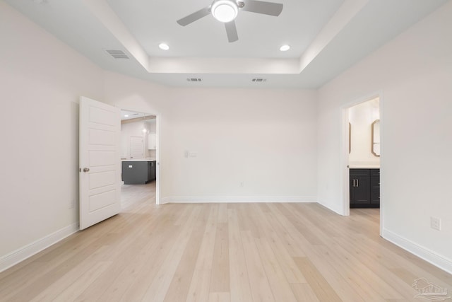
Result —
[[[78,98],[103,72],[4,1],[0,40],[1,270],[77,229]]]

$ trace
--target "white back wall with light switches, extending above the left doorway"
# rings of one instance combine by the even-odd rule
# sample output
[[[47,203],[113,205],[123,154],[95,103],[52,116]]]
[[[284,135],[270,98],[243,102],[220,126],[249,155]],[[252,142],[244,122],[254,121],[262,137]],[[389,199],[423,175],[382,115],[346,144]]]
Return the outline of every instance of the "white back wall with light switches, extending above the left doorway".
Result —
[[[316,202],[314,91],[105,85],[110,103],[160,114],[162,202]]]

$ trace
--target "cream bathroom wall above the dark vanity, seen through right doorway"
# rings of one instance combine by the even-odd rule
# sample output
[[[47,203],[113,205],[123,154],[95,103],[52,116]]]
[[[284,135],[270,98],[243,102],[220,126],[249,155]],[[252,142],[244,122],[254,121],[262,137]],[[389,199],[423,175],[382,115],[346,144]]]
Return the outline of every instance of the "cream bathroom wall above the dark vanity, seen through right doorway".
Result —
[[[350,168],[380,168],[380,158],[372,153],[372,123],[380,119],[379,98],[348,109],[351,124],[348,164]]]

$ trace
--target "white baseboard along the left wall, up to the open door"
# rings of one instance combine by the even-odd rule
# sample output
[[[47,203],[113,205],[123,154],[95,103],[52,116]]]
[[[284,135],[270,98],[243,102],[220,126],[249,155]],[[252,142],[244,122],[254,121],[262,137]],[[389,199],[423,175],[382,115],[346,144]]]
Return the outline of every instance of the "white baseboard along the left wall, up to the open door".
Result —
[[[0,272],[12,267],[13,265],[22,262],[23,260],[36,255],[38,252],[48,248],[50,245],[63,240],[64,238],[76,233],[78,231],[78,223],[72,223],[70,226],[61,228],[61,230],[49,234],[41,239],[36,240],[28,245],[25,245],[18,250],[10,252],[8,255],[0,257]]]

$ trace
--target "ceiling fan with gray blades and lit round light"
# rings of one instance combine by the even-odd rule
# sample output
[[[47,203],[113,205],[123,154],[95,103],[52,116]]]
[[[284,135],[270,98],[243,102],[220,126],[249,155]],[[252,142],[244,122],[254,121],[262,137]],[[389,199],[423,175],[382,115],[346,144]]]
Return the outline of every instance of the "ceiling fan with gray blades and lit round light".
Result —
[[[239,35],[237,35],[234,19],[237,17],[239,10],[250,11],[251,13],[263,13],[269,16],[279,16],[281,11],[283,11],[283,4],[257,0],[213,0],[212,4],[179,19],[177,23],[186,26],[211,13],[215,19],[225,23],[227,40],[229,42],[235,42],[239,40]]]

